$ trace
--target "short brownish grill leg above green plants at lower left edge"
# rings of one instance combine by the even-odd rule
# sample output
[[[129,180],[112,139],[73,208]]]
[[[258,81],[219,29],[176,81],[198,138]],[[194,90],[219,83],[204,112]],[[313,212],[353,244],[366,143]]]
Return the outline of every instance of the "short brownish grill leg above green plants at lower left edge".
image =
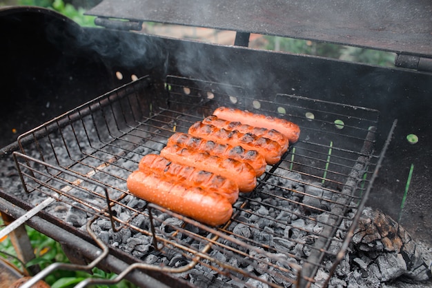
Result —
[[[14,218],[5,213],[1,213],[1,218],[3,218],[3,221],[6,225],[14,221]],[[17,227],[17,229],[14,229],[12,232],[10,232],[9,238],[10,242],[12,242],[12,245],[15,249],[15,252],[17,253],[17,257],[19,260],[21,260],[23,263],[28,263],[28,261],[35,258],[33,247],[30,244],[30,238],[28,238],[26,228],[23,225]],[[39,271],[41,271],[41,269],[37,265],[29,267],[28,270],[30,271],[30,273],[32,273],[32,275],[35,275],[39,273]]]

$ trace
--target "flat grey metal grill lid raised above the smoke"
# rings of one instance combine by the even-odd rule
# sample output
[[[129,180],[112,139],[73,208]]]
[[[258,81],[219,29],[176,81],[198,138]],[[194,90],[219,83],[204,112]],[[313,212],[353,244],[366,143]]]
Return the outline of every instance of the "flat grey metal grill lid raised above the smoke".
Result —
[[[88,14],[432,56],[431,12],[429,0],[105,0]]]

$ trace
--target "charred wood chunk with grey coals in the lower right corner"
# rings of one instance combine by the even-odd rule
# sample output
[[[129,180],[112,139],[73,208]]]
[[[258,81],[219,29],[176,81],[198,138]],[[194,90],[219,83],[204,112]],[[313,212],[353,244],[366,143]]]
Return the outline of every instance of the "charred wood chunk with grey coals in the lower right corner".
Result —
[[[324,261],[324,265],[326,261]],[[331,287],[432,287],[432,248],[380,210],[366,207]],[[328,269],[315,277],[323,283]]]

